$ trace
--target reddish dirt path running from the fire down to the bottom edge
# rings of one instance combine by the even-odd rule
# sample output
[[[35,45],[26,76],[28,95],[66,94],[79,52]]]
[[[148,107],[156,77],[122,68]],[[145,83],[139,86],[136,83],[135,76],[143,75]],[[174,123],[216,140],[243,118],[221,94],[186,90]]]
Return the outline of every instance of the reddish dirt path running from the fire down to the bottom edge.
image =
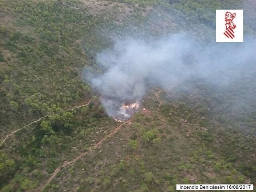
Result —
[[[75,163],[78,159],[81,159],[83,156],[87,155],[89,152],[91,152],[93,149],[96,149],[98,148],[102,142],[104,140],[106,140],[107,138],[111,137],[112,135],[114,135],[116,132],[118,132],[119,129],[121,129],[121,127],[129,122],[131,122],[132,119],[122,123],[121,125],[119,125],[117,128],[115,128],[109,135],[105,136],[104,138],[102,138],[98,143],[96,143],[95,145],[89,147],[89,150],[84,152],[84,153],[81,153],[80,155],[78,155],[75,159],[69,161],[69,162],[64,162],[61,166],[59,166],[58,168],[55,169],[55,171],[52,173],[52,176],[50,176],[50,178],[47,180],[47,182],[45,183],[45,185],[42,186],[42,188],[40,189],[40,191],[43,191],[43,189],[46,187],[46,185],[48,185],[54,178],[55,176],[57,175],[57,173],[62,169],[64,168],[65,166],[68,166],[72,163]]]

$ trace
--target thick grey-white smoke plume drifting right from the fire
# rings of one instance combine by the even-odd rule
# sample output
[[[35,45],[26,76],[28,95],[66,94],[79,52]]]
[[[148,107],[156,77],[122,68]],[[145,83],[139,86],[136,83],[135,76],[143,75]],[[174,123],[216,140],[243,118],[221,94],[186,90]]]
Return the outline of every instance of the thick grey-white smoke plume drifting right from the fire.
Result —
[[[255,73],[255,42],[244,38],[244,43],[203,44],[184,34],[150,42],[119,39],[111,50],[98,54],[96,61],[103,72],[85,69],[84,75],[101,95],[108,115],[116,117],[123,113],[121,105],[140,103],[151,86],[168,89],[191,76],[221,85],[243,75],[246,69],[246,73]]]

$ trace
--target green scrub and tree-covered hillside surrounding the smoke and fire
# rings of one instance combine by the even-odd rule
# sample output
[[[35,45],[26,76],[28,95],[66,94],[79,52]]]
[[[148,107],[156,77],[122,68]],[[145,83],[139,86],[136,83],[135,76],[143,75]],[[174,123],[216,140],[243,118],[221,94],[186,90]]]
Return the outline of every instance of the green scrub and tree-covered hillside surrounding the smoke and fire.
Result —
[[[256,185],[255,76],[223,92],[203,79],[171,91],[152,88],[142,103],[148,112],[127,123],[106,115],[101,96],[82,76],[85,67],[101,73],[95,58],[113,46],[113,36],[149,40],[186,31],[215,41],[216,9],[248,10],[244,33],[255,35],[256,14],[249,8],[256,4],[1,0],[0,7],[0,192]],[[250,104],[229,111],[227,105],[248,90]]]

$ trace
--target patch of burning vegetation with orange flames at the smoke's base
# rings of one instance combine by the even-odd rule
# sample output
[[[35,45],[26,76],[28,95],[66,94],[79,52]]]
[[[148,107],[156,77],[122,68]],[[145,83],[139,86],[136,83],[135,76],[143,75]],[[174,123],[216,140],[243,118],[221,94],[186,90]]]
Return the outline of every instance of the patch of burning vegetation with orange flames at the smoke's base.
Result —
[[[123,122],[125,120],[128,120],[132,117],[132,115],[137,112],[140,109],[140,104],[138,103],[130,103],[122,105],[114,119],[118,122]]]

